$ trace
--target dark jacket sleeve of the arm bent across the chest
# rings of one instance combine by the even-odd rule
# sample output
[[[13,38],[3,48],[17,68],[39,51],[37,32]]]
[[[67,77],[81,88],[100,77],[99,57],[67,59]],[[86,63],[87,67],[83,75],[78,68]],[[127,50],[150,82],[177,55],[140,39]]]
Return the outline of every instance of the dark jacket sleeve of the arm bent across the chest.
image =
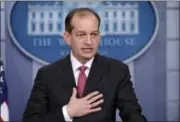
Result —
[[[22,122],[65,122],[62,107],[48,110],[48,93],[42,71],[39,70],[23,113]]]

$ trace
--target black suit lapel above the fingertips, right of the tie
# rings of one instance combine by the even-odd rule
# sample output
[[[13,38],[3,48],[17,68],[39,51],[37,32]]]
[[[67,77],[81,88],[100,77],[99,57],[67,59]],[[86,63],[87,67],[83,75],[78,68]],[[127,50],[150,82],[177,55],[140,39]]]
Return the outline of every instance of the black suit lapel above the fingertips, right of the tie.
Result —
[[[107,66],[107,63],[97,54],[92,63],[83,96],[86,96],[96,90],[97,84],[102,81],[103,77],[107,73]]]

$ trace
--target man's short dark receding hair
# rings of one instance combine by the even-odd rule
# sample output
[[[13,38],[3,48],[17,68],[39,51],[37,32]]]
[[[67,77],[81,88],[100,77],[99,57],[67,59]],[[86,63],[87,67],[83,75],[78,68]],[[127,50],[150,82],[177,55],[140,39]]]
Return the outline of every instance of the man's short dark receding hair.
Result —
[[[87,7],[83,7],[83,8],[75,8],[68,13],[68,15],[65,18],[65,31],[69,33],[72,32],[73,26],[71,24],[71,21],[76,14],[78,16],[86,16],[87,14],[93,14],[98,20],[98,28],[99,28],[101,21],[99,15],[94,10]]]

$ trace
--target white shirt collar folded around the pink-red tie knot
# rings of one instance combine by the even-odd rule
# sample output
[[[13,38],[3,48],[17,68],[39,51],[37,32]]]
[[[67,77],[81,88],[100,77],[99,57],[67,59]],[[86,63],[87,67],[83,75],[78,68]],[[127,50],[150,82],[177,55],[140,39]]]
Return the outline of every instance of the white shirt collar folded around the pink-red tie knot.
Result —
[[[70,60],[71,60],[71,63],[72,63],[73,72],[75,72],[80,66],[83,66],[83,64],[80,63],[80,62],[76,59],[76,57],[72,54],[72,51],[71,51],[71,54],[70,54]],[[87,62],[84,64],[84,66],[86,66],[88,69],[90,69],[93,60],[94,60],[94,57],[91,58],[89,61],[87,61]]]

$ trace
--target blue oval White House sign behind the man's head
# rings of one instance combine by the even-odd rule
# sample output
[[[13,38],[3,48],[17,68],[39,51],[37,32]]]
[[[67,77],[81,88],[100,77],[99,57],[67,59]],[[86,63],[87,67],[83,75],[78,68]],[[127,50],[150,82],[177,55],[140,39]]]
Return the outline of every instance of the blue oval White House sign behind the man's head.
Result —
[[[64,57],[70,50],[62,37],[64,20],[77,7],[89,7],[99,14],[99,53],[105,56],[132,61],[150,47],[157,33],[159,21],[153,2],[18,1],[9,12],[12,41],[42,64]]]

